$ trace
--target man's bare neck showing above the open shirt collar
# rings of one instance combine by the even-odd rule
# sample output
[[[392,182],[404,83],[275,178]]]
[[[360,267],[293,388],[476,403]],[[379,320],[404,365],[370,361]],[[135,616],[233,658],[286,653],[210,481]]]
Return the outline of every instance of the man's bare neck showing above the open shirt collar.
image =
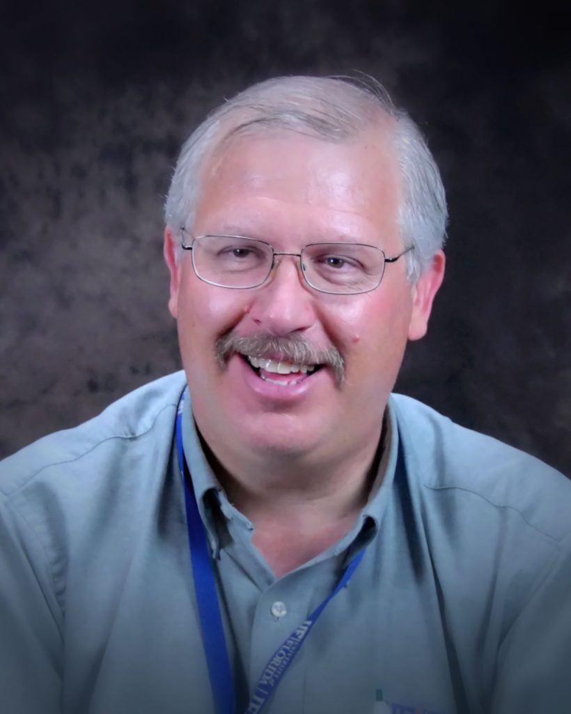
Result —
[[[371,493],[384,439],[317,462],[307,455],[247,458],[203,448],[227,497],[254,525],[254,545],[279,576],[311,560],[354,526]],[[359,448],[360,447],[360,448]],[[232,471],[227,464],[232,464]]]

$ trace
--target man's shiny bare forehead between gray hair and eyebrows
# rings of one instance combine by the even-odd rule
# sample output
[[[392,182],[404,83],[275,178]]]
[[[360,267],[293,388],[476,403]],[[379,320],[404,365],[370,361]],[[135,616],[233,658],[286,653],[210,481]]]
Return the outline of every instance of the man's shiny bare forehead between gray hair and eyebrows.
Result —
[[[386,227],[396,224],[401,196],[388,122],[342,142],[293,131],[235,136],[207,161],[201,183],[197,224],[278,212],[280,221],[352,216]]]

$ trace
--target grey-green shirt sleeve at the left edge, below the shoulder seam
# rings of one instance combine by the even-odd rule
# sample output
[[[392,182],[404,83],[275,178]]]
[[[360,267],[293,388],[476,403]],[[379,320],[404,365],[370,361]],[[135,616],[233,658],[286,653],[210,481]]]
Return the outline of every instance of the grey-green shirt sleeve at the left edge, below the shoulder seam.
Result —
[[[63,640],[48,558],[0,494],[0,710],[61,714]]]

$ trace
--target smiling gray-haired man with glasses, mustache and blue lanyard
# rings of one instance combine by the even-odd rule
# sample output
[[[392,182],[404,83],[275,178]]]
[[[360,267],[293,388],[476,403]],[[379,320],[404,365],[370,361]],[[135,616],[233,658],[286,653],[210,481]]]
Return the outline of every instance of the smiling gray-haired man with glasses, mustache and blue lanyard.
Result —
[[[264,82],[166,218],[184,374],[1,466],[3,710],[570,711],[570,484],[391,395],[444,274],[413,122]]]

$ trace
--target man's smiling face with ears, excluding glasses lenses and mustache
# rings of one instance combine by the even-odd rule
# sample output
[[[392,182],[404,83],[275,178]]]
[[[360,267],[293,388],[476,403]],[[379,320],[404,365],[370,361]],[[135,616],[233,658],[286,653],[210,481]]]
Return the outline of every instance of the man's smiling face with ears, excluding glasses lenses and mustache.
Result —
[[[401,185],[390,137],[387,128],[385,139],[371,134],[342,144],[289,132],[235,139],[202,176],[192,233],[250,236],[291,253],[307,243],[349,241],[396,255],[403,249],[396,225]],[[317,463],[378,440],[407,338],[426,330],[443,257],[415,288],[401,258],[386,266],[372,292],[319,293],[304,283],[299,259],[282,256],[269,282],[232,290],[200,281],[188,251],[175,263],[178,240],[167,229],[169,306],[178,320],[195,420],[212,450],[231,445]],[[297,335],[321,350],[334,346],[344,359],[344,382],[329,366],[264,379],[238,353],[222,367],[215,345],[229,332]]]

